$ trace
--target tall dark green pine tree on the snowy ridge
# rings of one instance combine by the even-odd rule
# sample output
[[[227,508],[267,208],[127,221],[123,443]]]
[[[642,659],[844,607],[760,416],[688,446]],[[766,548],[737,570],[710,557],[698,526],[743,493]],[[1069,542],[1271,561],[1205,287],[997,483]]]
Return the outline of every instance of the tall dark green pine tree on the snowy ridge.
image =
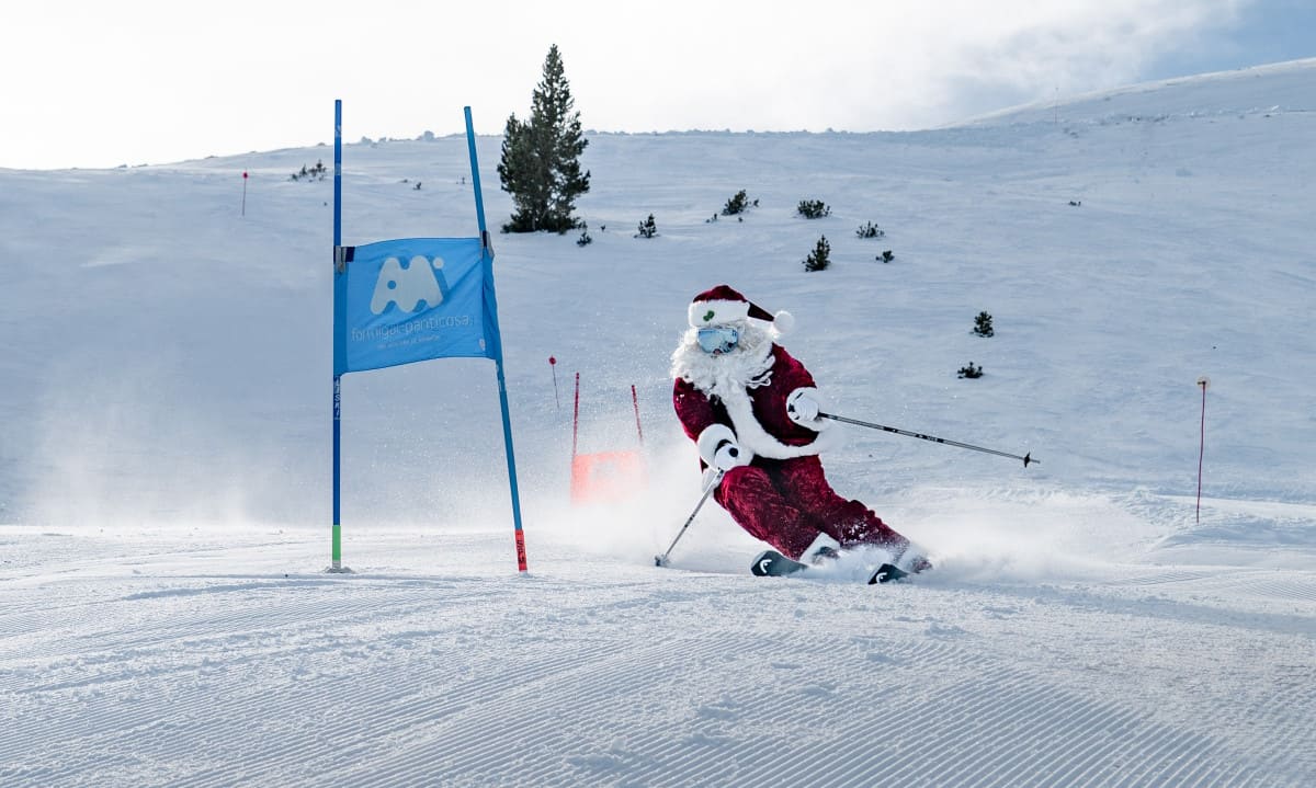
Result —
[[[513,113],[503,132],[497,174],[516,207],[504,232],[566,233],[579,226],[571,212],[575,199],[590,191],[590,172],[580,171],[580,154],[590,141],[580,133],[574,104],[554,43],[544,59],[544,79],[530,97],[530,120],[519,121]]]

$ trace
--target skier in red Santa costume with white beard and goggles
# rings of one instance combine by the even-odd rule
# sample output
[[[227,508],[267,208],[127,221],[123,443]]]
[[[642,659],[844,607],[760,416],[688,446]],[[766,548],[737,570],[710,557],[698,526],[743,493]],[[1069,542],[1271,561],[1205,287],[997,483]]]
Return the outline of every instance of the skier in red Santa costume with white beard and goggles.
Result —
[[[724,471],[713,497],[732,518],[799,560],[870,543],[905,571],[930,567],[909,539],[828,484],[819,453],[840,435],[819,416],[825,400],[808,370],[775,343],[791,314],[770,314],[720,284],[695,296],[688,317],[671,355],[672,404],[701,467]]]

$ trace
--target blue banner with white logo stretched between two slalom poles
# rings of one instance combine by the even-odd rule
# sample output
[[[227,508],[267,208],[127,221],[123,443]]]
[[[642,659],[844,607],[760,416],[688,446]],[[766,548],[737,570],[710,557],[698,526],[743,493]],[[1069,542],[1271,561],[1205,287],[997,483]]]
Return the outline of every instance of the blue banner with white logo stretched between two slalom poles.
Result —
[[[334,375],[436,358],[497,359],[492,254],[479,238],[338,250]]]

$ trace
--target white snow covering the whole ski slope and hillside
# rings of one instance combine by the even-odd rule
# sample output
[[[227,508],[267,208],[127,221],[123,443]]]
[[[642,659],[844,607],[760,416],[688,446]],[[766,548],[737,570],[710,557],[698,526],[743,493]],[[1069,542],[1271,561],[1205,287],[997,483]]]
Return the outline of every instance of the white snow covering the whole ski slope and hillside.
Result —
[[[333,183],[288,176],[332,147],[0,171],[0,785],[1316,784],[1316,61],[591,135],[583,247],[496,233],[499,145],[526,575],[471,359],[343,379],[324,572]],[[345,243],[475,233],[465,138],[346,145],[342,188]],[[837,413],[1041,463],[836,425],[833,485],[934,571],[758,579],[716,504],[654,567],[700,493],[667,358],[719,283],[794,313]],[[579,451],[645,459],[622,501],[570,503],[576,374]]]

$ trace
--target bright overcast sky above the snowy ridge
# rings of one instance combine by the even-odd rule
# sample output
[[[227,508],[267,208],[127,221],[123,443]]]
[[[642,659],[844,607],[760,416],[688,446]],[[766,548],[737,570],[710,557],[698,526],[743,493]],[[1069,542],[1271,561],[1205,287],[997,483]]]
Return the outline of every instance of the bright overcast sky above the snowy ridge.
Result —
[[[1316,57],[1312,0],[11,5],[0,167],[20,168],[332,142],[334,99],[349,142],[457,133],[465,105],[499,134],[551,43],[605,132],[919,129]]]

